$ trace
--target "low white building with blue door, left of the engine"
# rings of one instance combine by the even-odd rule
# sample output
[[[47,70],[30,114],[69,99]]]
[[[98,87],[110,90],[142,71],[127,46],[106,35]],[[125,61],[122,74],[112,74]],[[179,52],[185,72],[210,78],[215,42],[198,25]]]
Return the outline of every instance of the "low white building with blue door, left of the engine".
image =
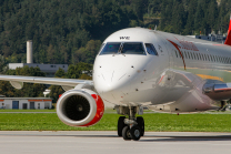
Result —
[[[50,97],[0,97],[0,109],[43,110],[52,107]]]

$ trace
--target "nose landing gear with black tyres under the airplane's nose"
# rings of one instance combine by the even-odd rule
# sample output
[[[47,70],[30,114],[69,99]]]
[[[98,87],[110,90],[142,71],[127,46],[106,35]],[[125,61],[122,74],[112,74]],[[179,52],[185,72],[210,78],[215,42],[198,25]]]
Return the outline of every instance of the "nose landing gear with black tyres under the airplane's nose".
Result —
[[[138,106],[120,106],[119,114],[128,115],[120,116],[118,120],[118,136],[122,136],[124,141],[139,141],[144,135],[144,120],[142,116],[135,117]]]

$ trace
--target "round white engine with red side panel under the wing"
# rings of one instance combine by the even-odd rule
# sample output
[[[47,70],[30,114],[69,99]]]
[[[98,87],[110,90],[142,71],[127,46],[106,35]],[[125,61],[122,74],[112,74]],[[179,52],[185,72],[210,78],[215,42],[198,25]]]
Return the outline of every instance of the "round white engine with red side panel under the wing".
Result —
[[[57,102],[59,119],[70,126],[93,125],[101,120],[103,112],[102,99],[87,89],[67,91]]]

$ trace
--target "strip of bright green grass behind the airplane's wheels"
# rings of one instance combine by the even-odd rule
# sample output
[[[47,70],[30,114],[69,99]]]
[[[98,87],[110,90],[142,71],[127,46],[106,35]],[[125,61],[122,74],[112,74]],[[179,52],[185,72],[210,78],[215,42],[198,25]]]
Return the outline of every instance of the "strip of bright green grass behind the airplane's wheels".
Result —
[[[120,115],[106,113],[90,127],[71,127],[57,114],[0,114],[0,131],[116,131]],[[231,114],[144,114],[145,131],[155,132],[231,132]]]

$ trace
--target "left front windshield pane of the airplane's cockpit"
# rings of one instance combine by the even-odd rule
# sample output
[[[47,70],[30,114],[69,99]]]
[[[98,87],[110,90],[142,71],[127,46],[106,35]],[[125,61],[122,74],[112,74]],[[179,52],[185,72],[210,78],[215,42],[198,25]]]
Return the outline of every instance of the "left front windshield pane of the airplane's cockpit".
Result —
[[[100,54],[116,54],[120,49],[120,42],[109,42],[104,45]]]

